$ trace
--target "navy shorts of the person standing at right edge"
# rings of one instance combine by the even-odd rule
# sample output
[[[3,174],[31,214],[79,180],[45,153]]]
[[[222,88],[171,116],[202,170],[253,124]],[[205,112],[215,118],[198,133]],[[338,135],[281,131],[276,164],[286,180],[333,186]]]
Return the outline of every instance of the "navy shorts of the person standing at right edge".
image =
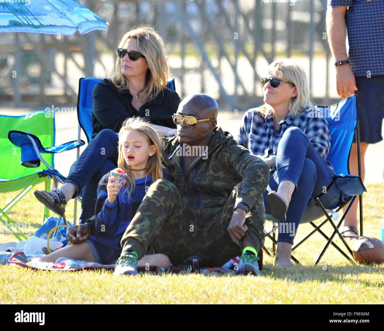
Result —
[[[356,86],[360,141],[367,144],[377,143],[383,139],[384,76],[356,77]]]

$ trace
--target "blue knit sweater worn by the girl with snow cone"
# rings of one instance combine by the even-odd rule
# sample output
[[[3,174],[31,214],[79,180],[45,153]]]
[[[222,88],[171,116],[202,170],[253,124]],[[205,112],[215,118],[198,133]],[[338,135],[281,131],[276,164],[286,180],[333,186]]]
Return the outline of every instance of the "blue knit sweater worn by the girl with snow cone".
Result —
[[[98,197],[96,201],[96,224],[92,235],[92,240],[115,249],[121,249],[120,241],[127,226],[131,223],[133,216],[136,214],[141,201],[146,194],[146,188],[152,184],[150,176],[135,181],[136,188],[128,201],[128,191],[123,186],[113,204],[108,203],[108,193],[106,183],[107,176],[101,180],[98,187]],[[129,188],[131,191],[131,188]]]

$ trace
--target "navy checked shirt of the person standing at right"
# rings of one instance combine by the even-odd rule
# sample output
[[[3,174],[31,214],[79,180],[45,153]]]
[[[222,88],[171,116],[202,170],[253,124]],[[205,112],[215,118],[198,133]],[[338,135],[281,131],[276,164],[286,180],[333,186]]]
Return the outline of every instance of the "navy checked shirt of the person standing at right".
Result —
[[[384,75],[384,1],[328,0],[328,5],[348,6],[348,60],[354,75]]]

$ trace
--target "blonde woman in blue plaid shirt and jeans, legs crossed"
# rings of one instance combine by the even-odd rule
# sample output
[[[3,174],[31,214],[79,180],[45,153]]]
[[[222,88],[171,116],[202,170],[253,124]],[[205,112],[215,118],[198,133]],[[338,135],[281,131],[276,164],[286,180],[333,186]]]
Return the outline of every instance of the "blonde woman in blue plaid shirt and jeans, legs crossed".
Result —
[[[271,168],[264,193],[267,212],[285,223],[279,226],[275,266],[291,266],[293,239],[312,195],[322,193],[335,175],[327,160],[331,134],[322,113],[310,102],[308,78],[291,60],[276,61],[262,78],[264,105],[248,110],[238,143]],[[340,199],[336,187],[320,200],[333,208]]]

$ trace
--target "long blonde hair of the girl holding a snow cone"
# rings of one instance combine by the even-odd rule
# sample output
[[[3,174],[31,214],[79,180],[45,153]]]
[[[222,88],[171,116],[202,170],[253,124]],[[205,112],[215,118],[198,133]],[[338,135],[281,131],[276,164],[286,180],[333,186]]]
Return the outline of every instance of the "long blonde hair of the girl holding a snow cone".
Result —
[[[148,156],[148,161],[146,166],[147,168],[146,176],[148,175],[151,176],[152,183],[154,183],[158,179],[163,178],[163,173],[162,173],[161,155],[160,155],[161,154],[160,150],[162,145],[155,130],[152,129],[151,126],[148,125],[147,121],[144,120],[143,118],[131,117],[125,120],[122,123],[122,127],[119,131],[118,167],[127,173],[126,188],[127,190],[129,188],[132,188],[131,191],[128,192],[128,200],[129,200],[129,197],[132,195],[133,191],[135,190],[136,185],[135,185],[135,180],[132,177],[131,167],[127,165],[124,158],[124,153],[123,153],[124,142],[125,142],[124,135],[128,131],[137,131],[142,136],[144,136],[144,138],[146,138],[149,146],[155,145],[156,147],[156,153],[153,154],[152,156]]]

